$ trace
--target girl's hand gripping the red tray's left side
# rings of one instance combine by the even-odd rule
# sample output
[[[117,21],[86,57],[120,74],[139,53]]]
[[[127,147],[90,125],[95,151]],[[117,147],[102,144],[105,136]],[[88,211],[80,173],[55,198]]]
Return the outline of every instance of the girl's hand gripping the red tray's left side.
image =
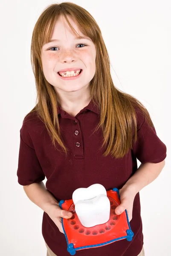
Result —
[[[49,204],[48,210],[46,213],[49,215],[49,217],[52,219],[52,221],[56,224],[59,231],[64,234],[64,231],[62,228],[61,217],[69,219],[72,217],[72,212],[62,210],[59,207],[59,204],[57,202],[54,202],[54,203]]]

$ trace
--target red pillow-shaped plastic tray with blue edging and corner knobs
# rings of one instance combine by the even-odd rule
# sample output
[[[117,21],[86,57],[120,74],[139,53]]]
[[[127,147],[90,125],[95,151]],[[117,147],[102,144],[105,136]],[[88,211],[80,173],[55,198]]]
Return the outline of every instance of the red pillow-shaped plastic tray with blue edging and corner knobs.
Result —
[[[84,227],[81,224],[72,199],[60,201],[61,209],[73,214],[70,219],[61,218],[67,250],[71,255],[75,255],[76,250],[100,247],[121,239],[132,240],[134,234],[130,228],[127,211],[125,210],[121,215],[115,214],[116,207],[121,203],[119,190],[114,188],[107,191],[107,197],[110,200],[109,221],[94,227]]]

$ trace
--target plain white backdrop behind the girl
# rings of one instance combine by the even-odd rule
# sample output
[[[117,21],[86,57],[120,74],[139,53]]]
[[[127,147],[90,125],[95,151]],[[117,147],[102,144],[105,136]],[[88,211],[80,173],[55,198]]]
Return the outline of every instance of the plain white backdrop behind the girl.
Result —
[[[110,56],[115,86],[145,105],[158,137],[167,146],[164,169],[153,183],[140,191],[140,198],[145,256],[169,256],[171,2],[72,2],[87,9],[97,21]],[[32,31],[43,9],[51,3],[57,2],[0,1],[0,255],[3,256],[46,255],[41,234],[43,211],[17,183],[17,163],[23,118],[36,100],[30,62]]]

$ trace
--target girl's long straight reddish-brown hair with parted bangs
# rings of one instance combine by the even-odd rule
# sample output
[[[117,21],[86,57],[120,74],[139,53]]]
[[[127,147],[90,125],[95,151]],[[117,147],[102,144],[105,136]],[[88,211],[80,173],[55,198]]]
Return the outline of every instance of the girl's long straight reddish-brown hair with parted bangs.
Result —
[[[67,15],[70,15],[80,31],[91,38],[96,46],[96,73],[90,81],[91,99],[100,111],[100,121],[95,131],[101,128],[103,132],[104,140],[101,148],[105,147],[106,150],[103,156],[111,154],[112,157],[122,158],[130,148],[132,149],[133,137],[134,142],[137,140],[135,108],[139,108],[152,127],[154,125],[147,109],[141,102],[114,86],[110,74],[109,55],[99,26],[89,12],[75,3],[53,3],[47,6],[35,24],[31,42],[31,64],[35,76],[37,99],[35,107],[29,113],[36,112],[38,114],[46,126],[52,144],[55,146],[55,142],[57,142],[62,151],[56,146],[55,148],[67,155],[68,149],[62,141],[58,121],[59,97],[54,87],[46,81],[41,61],[42,46],[49,42],[59,15],[63,15],[73,33],[77,35],[78,33],[67,19]]]

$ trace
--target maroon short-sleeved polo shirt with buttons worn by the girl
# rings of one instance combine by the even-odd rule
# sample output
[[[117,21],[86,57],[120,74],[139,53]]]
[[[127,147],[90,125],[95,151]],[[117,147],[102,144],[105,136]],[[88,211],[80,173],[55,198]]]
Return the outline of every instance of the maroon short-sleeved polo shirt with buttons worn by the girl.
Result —
[[[80,187],[87,188],[100,183],[106,190],[121,189],[137,170],[137,160],[141,163],[159,163],[166,157],[166,146],[136,109],[137,142],[120,159],[103,157],[99,151],[102,131],[94,129],[100,116],[91,100],[75,117],[58,107],[58,118],[62,137],[69,149],[67,158],[52,146],[43,122],[30,113],[20,129],[20,150],[18,159],[18,183],[28,185],[47,178],[46,188],[58,200],[72,198],[72,193]],[[140,215],[139,192],[133,203],[130,227],[134,233],[132,241],[126,239],[103,247],[76,251],[76,256],[137,256],[142,250],[143,234]],[[69,256],[67,241],[55,223],[43,212],[42,235],[50,249],[57,256]]]

